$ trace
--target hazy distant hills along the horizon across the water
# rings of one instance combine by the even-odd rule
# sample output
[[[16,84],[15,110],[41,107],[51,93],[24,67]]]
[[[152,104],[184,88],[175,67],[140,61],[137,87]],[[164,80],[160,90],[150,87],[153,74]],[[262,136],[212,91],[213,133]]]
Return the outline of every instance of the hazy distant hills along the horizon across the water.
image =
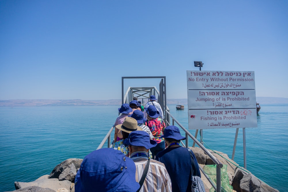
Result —
[[[260,104],[288,103],[288,98],[281,97],[256,97]],[[147,102],[147,99],[144,100]],[[186,99],[167,99],[167,104],[187,105]],[[0,100],[0,107],[35,107],[35,106],[97,106],[97,105],[121,105],[121,99],[110,100],[52,100],[52,99],[14,99]]]

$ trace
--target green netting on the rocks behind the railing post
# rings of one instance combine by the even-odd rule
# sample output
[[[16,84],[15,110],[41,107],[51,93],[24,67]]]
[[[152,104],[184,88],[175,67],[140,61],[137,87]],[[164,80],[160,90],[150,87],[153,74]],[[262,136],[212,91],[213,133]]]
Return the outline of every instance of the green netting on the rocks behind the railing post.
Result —
[[[205,165],[203,167],[203,171],[216,185],[216,165]],[[209,191],[214,192],[215,189],[212,187]],[[229,185],[227,165],[223,165],[223,167],[221,168],[221,192],[233,192],[233,187]]]

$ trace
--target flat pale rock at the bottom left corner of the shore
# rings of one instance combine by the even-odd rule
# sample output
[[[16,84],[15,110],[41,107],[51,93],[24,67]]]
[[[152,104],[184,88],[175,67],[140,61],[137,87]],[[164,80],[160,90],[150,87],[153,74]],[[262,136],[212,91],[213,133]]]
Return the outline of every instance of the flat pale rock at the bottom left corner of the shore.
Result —
[[[42,188],[50,188],[53,189],[54,191],[57,191],[60,188],[66,188],[70,189],[71,186],[71,181],[69,180],[63,180],[59,181],[57,178],[52,178],[52,179],[39,179],[35,180],[32,182],[15,182],[15,189],[23,189],[25,187],[31,187],[31,186],[38,186]]]

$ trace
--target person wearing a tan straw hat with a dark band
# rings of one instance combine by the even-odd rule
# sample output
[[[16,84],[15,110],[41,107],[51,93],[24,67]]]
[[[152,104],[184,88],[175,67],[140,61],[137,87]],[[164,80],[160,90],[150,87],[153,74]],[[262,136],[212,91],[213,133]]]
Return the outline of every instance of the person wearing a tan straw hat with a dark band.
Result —
[[[122,124],[117,125],[115,127],[121,131],[123,138],[119,141],[116,141],[113,144],[113,148],[121,151],[127,157],[128,157],[128,147],[124,146],[123,140],[128,138],[129,133],[131,133],[132,131],[136,131],[136,130],[142,131],[142,128],[139,127],[137,124],[138,123],[136,119],[132,117],[126,117]]]

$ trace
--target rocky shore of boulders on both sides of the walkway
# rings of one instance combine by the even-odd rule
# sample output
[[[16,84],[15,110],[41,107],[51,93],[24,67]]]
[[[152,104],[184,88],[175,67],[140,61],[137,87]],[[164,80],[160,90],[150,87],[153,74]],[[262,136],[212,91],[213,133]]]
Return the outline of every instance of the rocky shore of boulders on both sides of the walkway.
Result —
[[[190,147],[199,163],[203,168],[205,165],[213,165],[210,157],[202,151],[199,147]],[[227,154],[221,152],[210,151],[223,165],[227,165],[227,173],[229,178],[229,185],[233,187],[233,192],[279,192],[255,177],[248,170],[238,167],[239,165],[232,159],[229,159]],[[224,157],[224,158],[223,158]],[[227,159],[227,160],[226,160]],[[74,179],[77,170],[80,168],[83,159],[67,159],[58,164],[50,173],[50,175],[43,175],[31,182],[14,183],[14,192],[74,192]],[[206,192],[209,192],[212,185],[203,173],[202,180],[205,185]],[[232,190],[232,189],[231,189]],[[96,189],[95,189],[96,191]]]

